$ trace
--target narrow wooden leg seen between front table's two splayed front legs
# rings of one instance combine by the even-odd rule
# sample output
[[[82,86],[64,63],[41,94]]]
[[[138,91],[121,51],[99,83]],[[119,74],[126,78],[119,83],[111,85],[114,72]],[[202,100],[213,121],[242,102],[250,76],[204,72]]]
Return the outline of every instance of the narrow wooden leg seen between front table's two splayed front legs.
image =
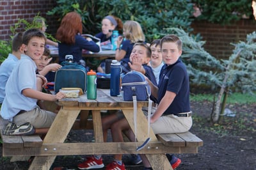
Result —
[[[93,120],[95,142],[103,143],[104,139],[103,139],[100,111],[97,111],[97,110],[92,111],[92,120]]]

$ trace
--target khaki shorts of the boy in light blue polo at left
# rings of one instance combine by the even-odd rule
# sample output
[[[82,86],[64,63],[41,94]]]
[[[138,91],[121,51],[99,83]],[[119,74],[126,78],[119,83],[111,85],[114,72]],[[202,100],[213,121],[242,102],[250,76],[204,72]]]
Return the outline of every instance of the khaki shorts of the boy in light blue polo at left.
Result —
[[[49,128],[54,121],[56,114],[54,112],[45,111],[37,106],[31,111],[20,112],[13,118],[13,122],[17,125],[30,122],[35,128]]]

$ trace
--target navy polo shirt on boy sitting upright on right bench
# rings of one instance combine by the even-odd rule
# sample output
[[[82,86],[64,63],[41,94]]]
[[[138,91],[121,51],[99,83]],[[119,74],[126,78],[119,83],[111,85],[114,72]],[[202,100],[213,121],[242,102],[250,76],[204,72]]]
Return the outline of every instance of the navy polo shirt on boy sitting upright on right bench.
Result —
[[[189,112],[189,77],[186,66],[180,59],[173,65],[164,65],[158,84],[158,101],[164,97],[166,91],[176,94],[172,104],[163,114],[177,114]]]

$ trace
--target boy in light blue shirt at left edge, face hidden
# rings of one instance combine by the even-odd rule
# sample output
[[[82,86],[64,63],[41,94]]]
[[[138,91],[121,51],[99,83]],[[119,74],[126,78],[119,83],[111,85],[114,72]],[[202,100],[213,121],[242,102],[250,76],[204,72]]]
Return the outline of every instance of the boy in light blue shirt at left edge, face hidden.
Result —
[[[5,85],[8,81],[13,68],[17,65],[20,59],[20,54],[23,54],[22,50],[22,33],[17,33],[12,39],[12,54],[8,55],[8,58],[0,65],[0,104],[3,103],[5,97]]]

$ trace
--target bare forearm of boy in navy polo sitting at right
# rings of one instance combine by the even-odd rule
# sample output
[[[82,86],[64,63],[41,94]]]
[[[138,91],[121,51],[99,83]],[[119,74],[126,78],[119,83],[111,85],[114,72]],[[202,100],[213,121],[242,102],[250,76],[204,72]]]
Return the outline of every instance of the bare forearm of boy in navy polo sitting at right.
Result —
[[[166,91],[161,102],[157,106],[156,112],[151,116],[150,123],[154,123],[158,118],[163,115],[163,112],[172,104],[176,94],[172,91]]]

